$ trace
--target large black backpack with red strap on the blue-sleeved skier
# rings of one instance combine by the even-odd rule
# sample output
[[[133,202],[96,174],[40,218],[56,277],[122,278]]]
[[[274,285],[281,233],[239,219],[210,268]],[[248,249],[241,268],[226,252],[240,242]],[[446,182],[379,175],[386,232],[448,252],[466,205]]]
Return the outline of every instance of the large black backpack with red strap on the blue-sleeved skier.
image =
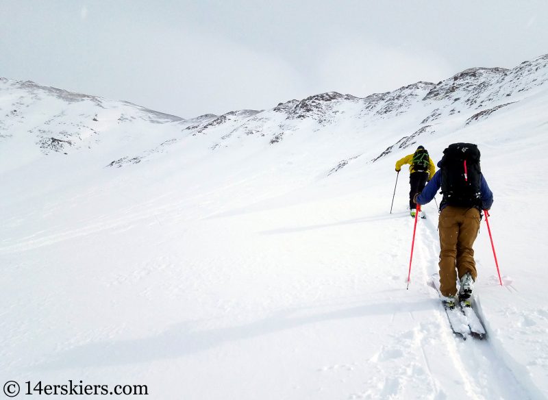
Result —
[[[453,143],[441,159],[442,204],[456,207],[482,206],[482,168],[479,149],[472,143]]]

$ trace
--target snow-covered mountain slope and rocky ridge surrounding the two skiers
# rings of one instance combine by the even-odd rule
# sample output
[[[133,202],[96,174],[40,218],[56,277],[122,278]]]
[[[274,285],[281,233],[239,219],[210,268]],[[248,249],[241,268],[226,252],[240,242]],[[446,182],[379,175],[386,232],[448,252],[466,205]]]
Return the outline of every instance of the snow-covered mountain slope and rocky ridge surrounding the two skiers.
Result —
[[[183,119],[1,79],[1,383],[21,395],[25,382],[139,384],[150,399],[547,398],[547,80],[543,56]],[[453,336],[427,284],[434,202],[406,290],[414,221],[394,164],[417,145],[437,162],[451,142],[477,143],[495,194],[503,286],[483,221],[482,341]]]

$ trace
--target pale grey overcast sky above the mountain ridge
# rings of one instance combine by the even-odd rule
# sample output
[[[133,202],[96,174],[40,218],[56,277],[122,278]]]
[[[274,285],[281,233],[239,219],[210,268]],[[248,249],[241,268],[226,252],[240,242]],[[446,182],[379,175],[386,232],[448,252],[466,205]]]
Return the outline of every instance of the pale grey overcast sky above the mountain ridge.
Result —
[[[190,118],[548,53],[548,0],[0,0],[0,77]]]

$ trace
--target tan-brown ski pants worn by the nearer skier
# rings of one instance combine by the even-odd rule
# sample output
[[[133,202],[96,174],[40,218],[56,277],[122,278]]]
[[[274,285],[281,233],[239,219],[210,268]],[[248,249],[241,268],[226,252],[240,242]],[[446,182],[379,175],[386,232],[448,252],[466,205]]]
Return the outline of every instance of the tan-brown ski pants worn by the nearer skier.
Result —
[[[438,230],[440,292],[444,296],[456,296],[457,279],[467,272],[474,280],[477,276],[472,246],[479,231],[479,210],[447,205],[440,212]]]

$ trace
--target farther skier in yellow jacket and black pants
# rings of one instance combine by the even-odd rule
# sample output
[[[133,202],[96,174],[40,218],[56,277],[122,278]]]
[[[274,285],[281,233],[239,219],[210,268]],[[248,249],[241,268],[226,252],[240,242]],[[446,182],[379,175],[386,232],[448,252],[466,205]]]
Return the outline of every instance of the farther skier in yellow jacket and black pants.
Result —
[[[399,173],[403,164],[409,164],[409,184],[411,190],[409,192],[409,208],[411,216],[414,218],[416,214],[416,203],[413,201],[414,195],[423,191],[423,188],[436,173],[434,161],[429,157],[428,151],[423,146],[416,148],[413,154],[406,155],[401,160],[396,162],[396,171]]]

